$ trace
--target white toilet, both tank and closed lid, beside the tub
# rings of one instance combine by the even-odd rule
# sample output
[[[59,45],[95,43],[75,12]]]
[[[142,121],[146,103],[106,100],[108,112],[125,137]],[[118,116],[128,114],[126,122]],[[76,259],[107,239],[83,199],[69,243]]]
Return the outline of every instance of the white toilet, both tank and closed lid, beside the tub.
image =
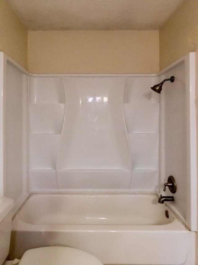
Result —
[[[14,201],[0,197],[0,265],[8,255],[12,207]],[[19,265],[102,265],[92,254],[70,247],[42,247],[27,250],[19,261]]]

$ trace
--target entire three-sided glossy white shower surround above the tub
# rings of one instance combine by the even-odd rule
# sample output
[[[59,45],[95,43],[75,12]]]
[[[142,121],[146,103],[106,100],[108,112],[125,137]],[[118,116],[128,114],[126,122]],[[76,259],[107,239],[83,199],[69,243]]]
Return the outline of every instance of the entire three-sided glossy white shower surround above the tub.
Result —
[[[191,53],[159,75],[29,75],[1,53],[1,194],[163,195],[173,175],[169,205],[196,230],[194,67]]]

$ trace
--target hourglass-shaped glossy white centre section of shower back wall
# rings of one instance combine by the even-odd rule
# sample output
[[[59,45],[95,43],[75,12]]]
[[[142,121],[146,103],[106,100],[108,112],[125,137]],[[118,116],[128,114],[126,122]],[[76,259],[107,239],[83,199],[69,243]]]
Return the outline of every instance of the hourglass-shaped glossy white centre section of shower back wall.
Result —
[[[57,155],[59,187],[80,188],[79,181],[84,182],[82,188],[90,188],[89,182],[93,189],[115,189],[117,181],[120,188],[129,186],[131,152],[123,113],[126,78],[62,81],[66,108]],[[116,177],[119,173],[120,180]],[[100,176],[108,178],[108,186],[105,182],[101,185]]]

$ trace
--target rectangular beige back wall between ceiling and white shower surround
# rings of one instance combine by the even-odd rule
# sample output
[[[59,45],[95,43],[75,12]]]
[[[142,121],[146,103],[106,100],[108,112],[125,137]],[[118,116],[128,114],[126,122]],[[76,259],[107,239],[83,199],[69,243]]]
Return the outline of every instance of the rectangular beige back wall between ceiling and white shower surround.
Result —
[[[31,73],[156,73],[159,33],[153,31],[28,31]]]

